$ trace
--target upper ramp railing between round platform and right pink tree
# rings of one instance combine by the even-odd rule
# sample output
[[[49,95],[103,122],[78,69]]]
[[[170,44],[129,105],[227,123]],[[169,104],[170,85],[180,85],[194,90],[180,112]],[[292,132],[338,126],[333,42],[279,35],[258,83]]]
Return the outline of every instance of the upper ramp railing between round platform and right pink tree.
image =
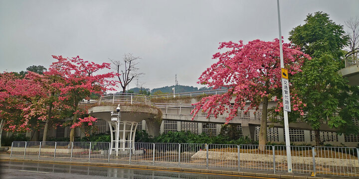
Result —
[[[227,89],[212,89],[212,90],[193,91],[193,92],[180,92],[180,93],[174,93],[174,94],[151,95],[151,98],[170,99],[170,98],[185,97],[185,96],[194,97],[194,96],[200,96],[200,95],[223,94],[225,92],[227,92]]]

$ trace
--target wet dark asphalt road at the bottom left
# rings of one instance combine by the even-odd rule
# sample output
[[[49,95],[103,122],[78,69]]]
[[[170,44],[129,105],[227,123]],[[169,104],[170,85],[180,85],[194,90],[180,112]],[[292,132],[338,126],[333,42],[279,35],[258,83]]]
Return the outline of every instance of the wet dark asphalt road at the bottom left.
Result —
[[[44,162],[1,161],[1,179],[270,179]]]

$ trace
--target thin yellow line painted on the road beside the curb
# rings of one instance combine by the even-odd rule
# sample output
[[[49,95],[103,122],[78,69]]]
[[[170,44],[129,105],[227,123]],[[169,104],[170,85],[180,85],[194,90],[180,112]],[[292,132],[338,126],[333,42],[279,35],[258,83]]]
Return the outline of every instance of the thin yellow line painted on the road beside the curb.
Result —
[[[1,162],[28,162],[28,161],[10,161],[10,160],[0,160]],[[63,162],[63,161],[61,161]],[[31,161],[28,163],[38,163],[38,164],[56,164],[49,162],[35,162]],[[138,169],[130,167],[110,167],[110,166],[93,166],[93,165],[79,165],[79,164],[56,164],[56,165],[73,165],[73,166],[85,166],[85,167],[104,167],[104,168],[119,168],[119,169],[135,169],[135,170],[149,170],[149,171],[163,171],[163,172],[179,172],[179,173],[192,173],[192,174],[207,174],[207,175],[220,175],[220,176],[234,176],[234,177],[248,177],[248,178],[257,178],[257,179],[278,179],[278,178],[268,178],[268,177],[252,177],[252,176],[242,176],[242,175],[230,175],[230,174],[211,174],[211,173],[201,173],[201,172],[184,172],[184,171],[171,171],[171,170],[160,170],[160,169]]]

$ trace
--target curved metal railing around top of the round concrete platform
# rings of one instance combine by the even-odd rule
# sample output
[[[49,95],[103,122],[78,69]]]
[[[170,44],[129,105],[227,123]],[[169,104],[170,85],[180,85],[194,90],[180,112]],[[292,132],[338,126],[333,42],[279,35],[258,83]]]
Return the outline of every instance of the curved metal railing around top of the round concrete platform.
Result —
[[[151,105],[151,99],[147,95],[135,93],[103,94],[98,104],[146,104]]]

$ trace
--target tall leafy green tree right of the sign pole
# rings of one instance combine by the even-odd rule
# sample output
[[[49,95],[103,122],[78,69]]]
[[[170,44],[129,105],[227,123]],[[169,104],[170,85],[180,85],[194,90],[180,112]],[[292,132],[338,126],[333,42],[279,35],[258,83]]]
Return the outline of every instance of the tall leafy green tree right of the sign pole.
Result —
[[[359,117],[359,89],[348,86],[348,81],[337,73],[344,67],[342,49],[348,42],[343,26],[324,12],[308,14],[305,22],[289,33],[289,40],[312,60],[304,63],[303,72],[296,74],[291,82],[306,103],[307,114],[302,120],[312,126],[316,143],[320,145],[322,123],[339,128],[340,132],[358,132],[353,119]]]

